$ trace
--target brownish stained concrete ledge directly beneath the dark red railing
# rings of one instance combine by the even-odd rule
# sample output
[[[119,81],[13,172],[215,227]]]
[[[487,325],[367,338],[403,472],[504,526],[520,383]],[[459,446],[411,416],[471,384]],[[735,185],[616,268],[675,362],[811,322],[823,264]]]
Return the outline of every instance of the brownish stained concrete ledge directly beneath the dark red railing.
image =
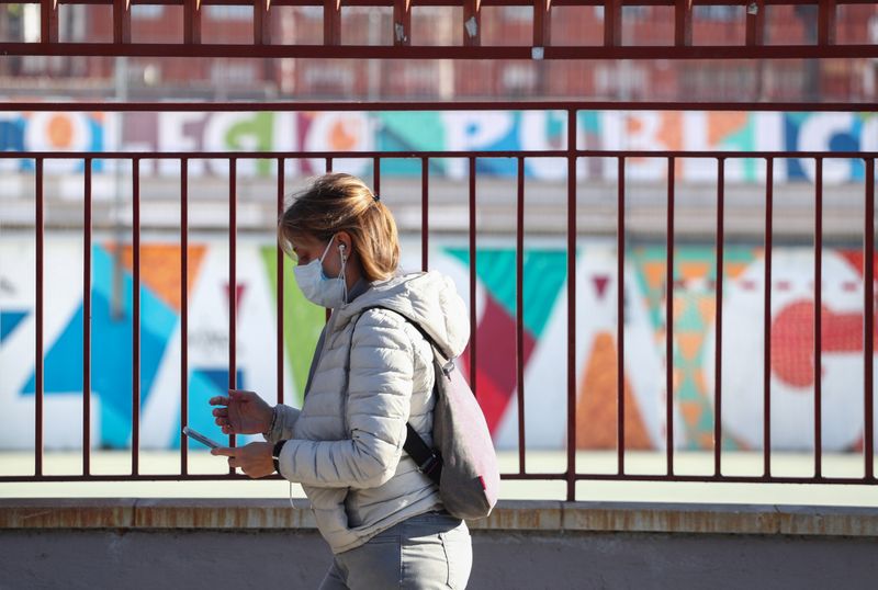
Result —
[[[0,530],[313,530],[305,500],[0,499]],[[502,501],[474,531],[878,537],[870,508]]]

